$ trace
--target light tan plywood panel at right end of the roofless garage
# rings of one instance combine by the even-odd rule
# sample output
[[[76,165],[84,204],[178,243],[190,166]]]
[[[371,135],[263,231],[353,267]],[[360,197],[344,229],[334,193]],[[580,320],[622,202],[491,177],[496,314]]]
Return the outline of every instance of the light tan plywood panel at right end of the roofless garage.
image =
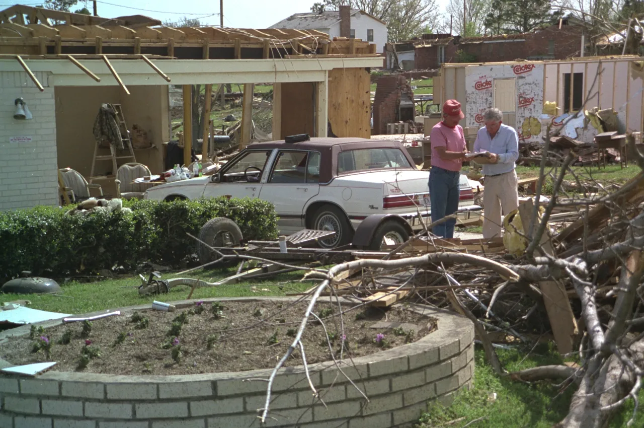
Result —
[[[369,138],[370,110],[365,68],[334,68],[328,73],[328,121],[337,137]]]

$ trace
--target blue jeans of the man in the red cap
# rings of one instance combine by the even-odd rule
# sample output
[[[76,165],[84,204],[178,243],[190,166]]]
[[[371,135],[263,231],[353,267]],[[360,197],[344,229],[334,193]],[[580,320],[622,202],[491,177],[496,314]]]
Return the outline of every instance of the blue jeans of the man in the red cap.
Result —
[[[437,166],[430,170],[431,222],[455,213],[459,209],[460,172],[448,171]],[[456,219],[434,226],[432,233],[442,238],[454,237]]]

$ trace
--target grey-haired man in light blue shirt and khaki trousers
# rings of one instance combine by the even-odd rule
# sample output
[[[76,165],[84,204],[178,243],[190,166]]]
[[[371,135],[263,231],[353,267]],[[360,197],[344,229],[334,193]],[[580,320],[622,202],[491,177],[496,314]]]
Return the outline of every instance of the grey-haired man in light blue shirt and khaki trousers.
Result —
[[[515,171],[519,139],[514,128],[502,123],[503,113],[498,108],[488,109],[483,120],[485,128],[478,130],[474,151],[490,153],[490,163],[483,165],[483,237],[493,238],[501,236],[501,210],[507,215],[519,206]]]

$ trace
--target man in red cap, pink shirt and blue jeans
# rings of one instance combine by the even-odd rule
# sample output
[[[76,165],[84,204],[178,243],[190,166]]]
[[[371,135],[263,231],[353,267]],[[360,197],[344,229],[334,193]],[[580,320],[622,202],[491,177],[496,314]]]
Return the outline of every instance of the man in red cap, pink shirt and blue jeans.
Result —
[[[431,222],[459,209],[460,168],[468,153],[463,128],[459,125],[464,117],[460,102],[448,99],[442,106],[442,120],[431,128]],[[432,233],[442,238],[453,238],[455,224],[455,219],[447,220],[435,226]]]

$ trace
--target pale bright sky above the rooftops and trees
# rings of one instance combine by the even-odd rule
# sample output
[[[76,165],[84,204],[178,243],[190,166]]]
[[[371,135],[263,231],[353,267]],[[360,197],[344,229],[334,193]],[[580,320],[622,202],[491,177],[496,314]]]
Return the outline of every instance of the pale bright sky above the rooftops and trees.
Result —
[[[233,28],[268,28],[292,14],[309,12],[316,1],[320,0],[223,0],[223,25]],[[445,1],[439,0],[439,3]],[[80,0],[77,7],[81,8],[84,3],[84,0]],[[199,18],[202,24],[220,24],[217,0],[98,0],[97,3],[98,14],[101,17],[140,14],[160,21],[178,21],[185,16]],[[36,6],[43,4],[43,0],[0,0],[0,10],[16,4]],[[91,11],[92,2],[88,1],[87,4]],[[441,9],[444,9],[444,6],[441,6]]]

